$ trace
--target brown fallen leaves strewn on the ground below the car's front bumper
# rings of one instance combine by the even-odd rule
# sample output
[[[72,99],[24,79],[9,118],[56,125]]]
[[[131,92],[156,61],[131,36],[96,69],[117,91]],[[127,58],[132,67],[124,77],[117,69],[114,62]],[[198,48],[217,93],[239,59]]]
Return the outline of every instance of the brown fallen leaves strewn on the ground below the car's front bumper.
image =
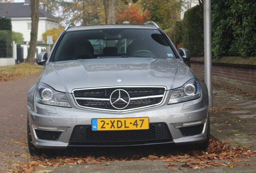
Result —
[[[219,142],[215,139],[210,139],[209,147],[205,151],[177,151],[175,154],[163,155],[149,155],[148,157],[141,157],[140,155],[133,156],[101,156],[101,157],[56,157],[47,158],[47,155],[40,157],[33,156],[32,162],[14,164],[9,170],[12,173],[32,173],[33,171],[40,172],[40,169],[52,167],[64,167],[66,165],[79,164],[100,164],[110,165],[113,161],[145,161],[145,160],[163,160],[163,162],[170,162],[165,164],[165,167],[171,170],[180,169],[179,167],[189,167],[193,169],[201,169],[213,166],[229,166],[236,165],[252,165],[255,163],[246,163],[250,157],[256,157],[256,153],[250,150],[250,147],[231,147],[227,146],[229,142]],[[243,162],[243,163],[239,163]],[[100,167],[99,169],[103,169]],[[43,172],[52,172],[51,170],[43,170]]]

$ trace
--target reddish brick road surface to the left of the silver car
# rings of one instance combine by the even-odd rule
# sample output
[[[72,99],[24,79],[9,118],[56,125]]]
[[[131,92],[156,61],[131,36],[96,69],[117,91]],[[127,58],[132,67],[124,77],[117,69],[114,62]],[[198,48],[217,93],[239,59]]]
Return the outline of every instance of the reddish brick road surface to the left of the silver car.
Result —
[[[0,82],[0,172],[30,157],[26,144],[27,89],[39,76]]]

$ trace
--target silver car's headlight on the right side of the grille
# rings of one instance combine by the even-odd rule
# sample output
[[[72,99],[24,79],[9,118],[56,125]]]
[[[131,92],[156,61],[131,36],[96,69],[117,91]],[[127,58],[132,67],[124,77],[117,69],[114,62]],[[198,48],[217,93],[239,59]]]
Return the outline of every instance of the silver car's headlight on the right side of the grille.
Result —
[[[180,103],[197,99],[201,96],[201,87],[196,78],[190,79],[186,84],[171,93],[168,104]]]

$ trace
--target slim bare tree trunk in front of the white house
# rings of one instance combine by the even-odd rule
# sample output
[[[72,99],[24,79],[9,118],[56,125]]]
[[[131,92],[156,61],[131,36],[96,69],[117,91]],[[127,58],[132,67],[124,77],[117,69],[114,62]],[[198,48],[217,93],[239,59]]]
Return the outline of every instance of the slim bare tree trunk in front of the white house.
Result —
[[[30,32],[30,43],[29,52],[25,62],[34,64],[35,63],[35,52],[37,49],[37,31],[39,22],[39,0],[31,0],[31,32]]]

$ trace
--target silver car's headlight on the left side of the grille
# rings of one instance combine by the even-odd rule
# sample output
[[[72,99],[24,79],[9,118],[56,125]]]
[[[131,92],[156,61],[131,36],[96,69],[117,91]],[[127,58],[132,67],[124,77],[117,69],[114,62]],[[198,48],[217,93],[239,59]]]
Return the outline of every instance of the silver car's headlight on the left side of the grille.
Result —
[[[71,107],[64,93],[55,91],[44,83],[38,84],[36,96],[36,101],[38,103],[59,107]]]

